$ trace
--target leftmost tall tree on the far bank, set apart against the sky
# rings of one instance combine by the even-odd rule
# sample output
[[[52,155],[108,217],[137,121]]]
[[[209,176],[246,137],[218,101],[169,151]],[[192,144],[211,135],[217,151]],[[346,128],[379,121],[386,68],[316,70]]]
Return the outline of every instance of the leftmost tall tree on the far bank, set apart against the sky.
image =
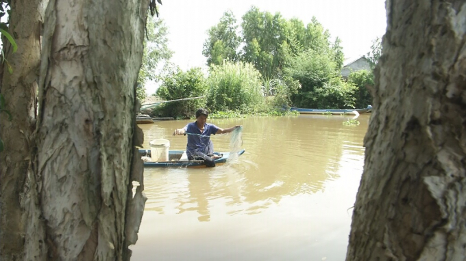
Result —
[[[236,35],[236,18],[231,10],[225,12],[220,22],[208,30],[202,54],[207,57],[207,64],[221,65],[223,60],[236,61],[241,37]]]

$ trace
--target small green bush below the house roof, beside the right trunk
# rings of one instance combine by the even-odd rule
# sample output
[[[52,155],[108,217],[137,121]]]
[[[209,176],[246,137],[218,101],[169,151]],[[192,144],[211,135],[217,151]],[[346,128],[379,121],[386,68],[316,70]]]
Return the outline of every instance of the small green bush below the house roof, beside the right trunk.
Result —
[[[372,104],[372,96],[368,88],[373,87],[373,73],[368,70],[359,70],[349,74],[348,83],[356,86],[356,108],[365,108]]]

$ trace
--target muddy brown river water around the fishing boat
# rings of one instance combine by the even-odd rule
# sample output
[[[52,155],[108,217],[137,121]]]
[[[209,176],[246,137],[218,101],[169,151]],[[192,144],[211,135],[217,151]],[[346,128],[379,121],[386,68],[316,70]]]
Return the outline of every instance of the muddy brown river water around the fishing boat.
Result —
[[[214,168],[145,168],[132,260],[344,260],[369,115],[208,120],[243,125],[246,152]],[[189,120],[141,124],[145,148]],[[231,135],[213,135],[230,151]]]

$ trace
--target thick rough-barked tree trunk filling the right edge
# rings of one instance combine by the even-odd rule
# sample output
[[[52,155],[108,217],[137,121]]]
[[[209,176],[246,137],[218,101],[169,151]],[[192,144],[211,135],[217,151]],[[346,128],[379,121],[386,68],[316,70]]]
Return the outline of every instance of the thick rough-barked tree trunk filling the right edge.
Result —
[[[347,260],[464,260],[466,3],[386,5]]]

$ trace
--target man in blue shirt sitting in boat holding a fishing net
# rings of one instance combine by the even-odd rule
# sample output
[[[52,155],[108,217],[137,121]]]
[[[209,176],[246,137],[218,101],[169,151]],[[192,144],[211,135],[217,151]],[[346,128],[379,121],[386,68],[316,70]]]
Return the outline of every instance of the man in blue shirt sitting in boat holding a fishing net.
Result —
[[[188,135],[188,145],[186,146],[186,154],[188,159],[202,159],[208,167],[215,167],[214,145],[210,140],[210,135],[231,133],[239,125],[231,128],[219,128],[207,122],[209,112],[206,109],[198,109],[196,111],[196,122],[188,123],[184,128],[177,128],[173,135]]]

